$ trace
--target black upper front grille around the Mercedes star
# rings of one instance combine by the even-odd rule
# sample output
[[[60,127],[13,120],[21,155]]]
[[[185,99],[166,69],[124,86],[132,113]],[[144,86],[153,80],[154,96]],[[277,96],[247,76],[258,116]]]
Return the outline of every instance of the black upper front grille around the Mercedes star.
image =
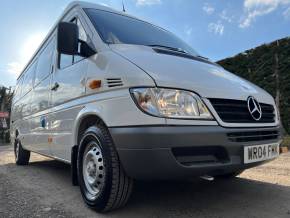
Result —
[[[247,101],[231,99],[209,99],[221,120],[225,123],[274,123],[275,109],[273,105],[260,103],[262,117],[256,121],[248,110]]]

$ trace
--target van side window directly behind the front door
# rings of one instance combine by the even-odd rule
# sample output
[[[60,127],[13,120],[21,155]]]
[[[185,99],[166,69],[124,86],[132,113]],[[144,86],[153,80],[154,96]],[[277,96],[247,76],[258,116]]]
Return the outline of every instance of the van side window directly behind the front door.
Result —
[[[53,53],[55,50],[54,38],[47,44],[38,57],[35,84],[37,85],[51,72]]]

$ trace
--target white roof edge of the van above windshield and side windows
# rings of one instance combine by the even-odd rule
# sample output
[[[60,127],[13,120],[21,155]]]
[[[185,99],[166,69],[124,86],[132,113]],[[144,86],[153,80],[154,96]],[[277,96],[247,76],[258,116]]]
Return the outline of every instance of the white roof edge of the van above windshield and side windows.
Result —
[[[89,3],[89,2],[84,2],[84,1],[73,1],[71,2],[66,9],[64,10],[64,12],[61,14],[61,16],[57,19],[57,21],[55,22],[55,24],[53,25],[53,27],[50,29],[50,31],[48,32],[48,34],[46,35],[46,37],[44,38],[44,40],[40,43],[40,46],[37,48],[37,50],[35,51],[35,53],[31,56],[31,59],[29,60],[29,62],[25,65],[25,67],[23,68],[22,72],[19,74],[17,80],[20,79],[20,77],[23,75],[24,71],[26,70],[26,68],[29,66],[29,64],[32,62],[32,60],[34,59],[34,57],[36,56],[36,54],[39,52],[40,48],[43,46],[43,44],[48,40],[48,38],[50,37],[50,35],[52,34],[52,32],[55,30],[55,28],[57,27],[58,23],[63,19],[63,17],[69,12],[71,11],[73,8],[75,7],[80,7],[80,8],[95,8],[95,9],[99,9],[99,10],[103,10],[103,11],[109,11],[109,12],[113,12],[113,13],[117,13],[117,14],[123,14],[126,15],[128,17],[132,17],[128,14],[125,14],[122,11],[117,11],[114,10],[106,5],[101,5],[101,4],[95,4],[95,3]],[[135,18],[135,17],[134,17]]]

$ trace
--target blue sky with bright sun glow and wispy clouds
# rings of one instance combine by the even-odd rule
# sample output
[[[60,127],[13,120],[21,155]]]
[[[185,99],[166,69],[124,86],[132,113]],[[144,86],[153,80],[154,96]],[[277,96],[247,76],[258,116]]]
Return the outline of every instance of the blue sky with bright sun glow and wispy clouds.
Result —
[[[88,0],[122,10],[122,0]],[[0,85],[17,76],[71,0],[2,0]],[[124,0],[126,11],[161,26],[217,61],[290,36],[290,0]]]

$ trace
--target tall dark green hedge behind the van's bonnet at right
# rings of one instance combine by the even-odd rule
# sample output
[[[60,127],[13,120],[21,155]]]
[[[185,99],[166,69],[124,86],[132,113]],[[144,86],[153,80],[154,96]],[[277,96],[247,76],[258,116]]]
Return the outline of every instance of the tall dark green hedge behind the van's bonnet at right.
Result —
[[[228,71],[262,87],[274,98],[279,93],[281,120],[288,134],[290,134],[289,54],[290,38],[284,38],[218,62]]]

